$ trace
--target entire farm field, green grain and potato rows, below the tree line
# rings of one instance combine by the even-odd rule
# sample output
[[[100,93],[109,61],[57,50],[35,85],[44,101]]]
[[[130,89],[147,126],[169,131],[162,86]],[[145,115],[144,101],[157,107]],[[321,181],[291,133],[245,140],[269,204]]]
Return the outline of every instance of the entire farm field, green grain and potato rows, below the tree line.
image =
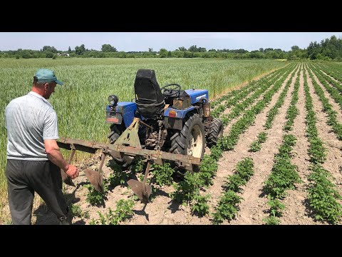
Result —
[[[26,60],[24,60],[26,61]],[[142,181],[145,163],[128,170],[107,159],[105,195],[86,176],[64,185],[73,224],[342,224],[342,66],[338,63],[250,60],[62,60],[5,64],[0,60],[1,176],[4,187],[4,107],[31,89],[41,66],[56,70],[61,86],[49,101],[60,136],[105,142],[109,94],[134,98],[138,69],[155,69],[160,86],[208,89],[211,114],[224,123],[217,146],[206,148],[199,172],[175,176],[153,164],[150,203],[128,188]],[[61,64],[53,61],[61,61]],[[111,60],[113,61],[113,60]],[[92,63],[93,62],[93,63]],[[234,90],[232,90],[234,89]],[[68,151],[63,151],[67,157]],[[96,169],[100,154],[80,155],[77,166]],[[10,223],[2,197],[0,223]],[[58,223],[36,198],[33,223]]]

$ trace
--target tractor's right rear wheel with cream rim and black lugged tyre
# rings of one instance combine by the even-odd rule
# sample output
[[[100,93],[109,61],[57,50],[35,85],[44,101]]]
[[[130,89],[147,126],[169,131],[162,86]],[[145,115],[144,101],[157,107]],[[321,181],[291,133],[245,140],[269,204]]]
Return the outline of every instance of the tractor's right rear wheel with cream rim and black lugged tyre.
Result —
[[[171,153],[203,158],[205,148],[204,125],[198,114],[187,115],[182,131],[171,138]]]

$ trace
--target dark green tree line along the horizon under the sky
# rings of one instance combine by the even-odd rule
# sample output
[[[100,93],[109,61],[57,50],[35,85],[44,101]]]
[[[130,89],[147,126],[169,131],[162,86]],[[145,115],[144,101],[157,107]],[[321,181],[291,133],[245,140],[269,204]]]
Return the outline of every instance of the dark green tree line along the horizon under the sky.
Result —
[[[205,49],[204,47],[190,46],[186,49],[180,46],[174,51],[160,49],[153,51],[118,51],[110,44],[103,44],[101,50],[86,49],[84,44],[76,46],[68,51],[58,51],[54,46],[43,46],[40,50],[18,49],[16,51],[0,51],[0,58],[60,58],[60,57],[83,57],[83,58],[229,58],[229,59],[288,59],[288,60],[336,60],[342,61],[342,39],[331,36],[320,43],[311,42],[306,49],[292,46],[290,51],[281,49],[260,48],[254,51],[244,49]]]

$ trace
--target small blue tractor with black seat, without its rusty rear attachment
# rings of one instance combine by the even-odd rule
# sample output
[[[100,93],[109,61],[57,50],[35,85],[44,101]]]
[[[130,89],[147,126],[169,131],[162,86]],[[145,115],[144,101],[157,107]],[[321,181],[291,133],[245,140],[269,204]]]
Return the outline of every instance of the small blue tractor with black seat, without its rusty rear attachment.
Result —
[[[223,135],[223,124],[210,115],[206,89],[182,90],[179,84],[160,88],[155,71],[139,69],[135,77],[135,101],[119,102],[111,95],[106,106],[106,122],[111,144],[139,119],[138,137],[143,149],[160,150],[202,159],[205,146],[214,146]],[[113,157],[128,166],[133,158]],[[177,167],[176,167],[177,169]]]

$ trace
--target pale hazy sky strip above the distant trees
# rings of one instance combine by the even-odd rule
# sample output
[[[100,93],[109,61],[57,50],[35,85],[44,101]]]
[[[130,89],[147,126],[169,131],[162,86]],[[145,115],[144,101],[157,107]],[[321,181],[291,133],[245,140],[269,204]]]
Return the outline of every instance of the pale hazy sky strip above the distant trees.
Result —
[[[86,49],[101,50],[110,44],[118,51],[174,51],[181,46],[207,49],[260,48],[291,50],[291,46],[305,49],[311,41],[321,42],[335,35],[342,39],[342,32],[0,32],[0,51],[17,49],[40,50],[54,46],[58,51],[71,50],[84,44]]]

